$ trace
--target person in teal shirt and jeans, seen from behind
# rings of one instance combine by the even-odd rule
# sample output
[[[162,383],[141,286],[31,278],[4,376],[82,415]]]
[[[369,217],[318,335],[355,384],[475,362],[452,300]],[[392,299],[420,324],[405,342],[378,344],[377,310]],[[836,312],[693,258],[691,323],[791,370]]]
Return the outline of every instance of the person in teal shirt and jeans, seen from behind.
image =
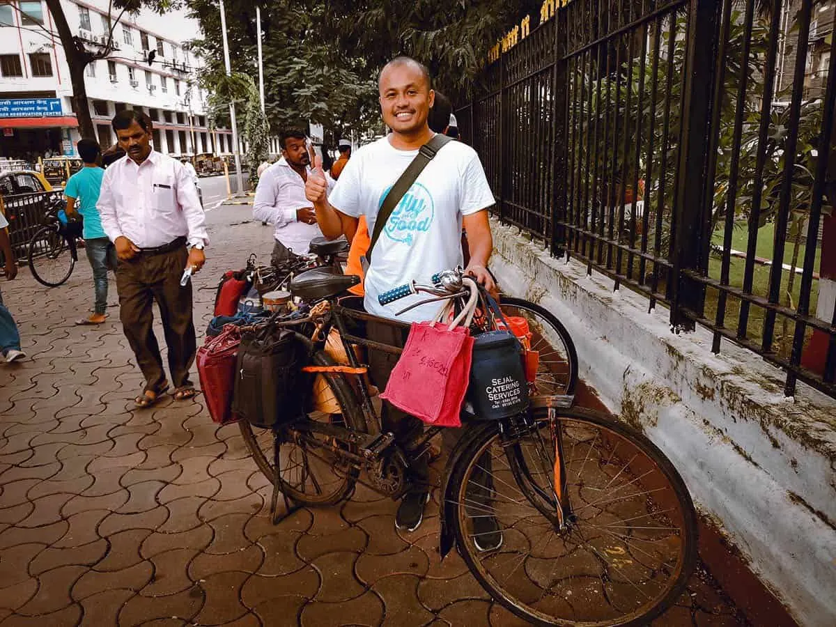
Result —
[[[99,167],[101,149],[94,140],[79,140],[77,144],[79,156],[84,161],[84,167],[69,177],[64,188],[67,197],[67,216],[84,218],[84,250],[90,267],[93,268],[93,283],[95,291],[94,314],[88,318],[75,321],[75,324],[102,324],[107,317],[107,271],[116,269],[116,249],[102,228],[99,210],[99,190],[102,186],[104,170]]]

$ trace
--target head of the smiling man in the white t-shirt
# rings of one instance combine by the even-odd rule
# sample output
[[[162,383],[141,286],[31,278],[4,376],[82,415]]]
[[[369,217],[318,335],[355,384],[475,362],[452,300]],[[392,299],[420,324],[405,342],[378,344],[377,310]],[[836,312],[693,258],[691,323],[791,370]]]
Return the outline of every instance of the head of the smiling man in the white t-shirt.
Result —
[[[380,74],[380,111],[395,133],[410,134],[425,127],[435,98],[415,64],[390,65]]]

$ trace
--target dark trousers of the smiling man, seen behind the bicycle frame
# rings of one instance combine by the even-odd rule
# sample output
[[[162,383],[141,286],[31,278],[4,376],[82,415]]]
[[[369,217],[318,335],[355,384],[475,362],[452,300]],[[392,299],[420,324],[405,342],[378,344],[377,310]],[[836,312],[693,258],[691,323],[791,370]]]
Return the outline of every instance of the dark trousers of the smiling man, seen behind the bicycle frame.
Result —
[[[370,320],[366,326],[366,334],[372,341],[402,348],[405,346],[406,338],[409,336],[409,329],[400,329],[391,324]],[[389,382],[389,377],[392,374],[392,369],[395,368],[398,359],[398,355],[369,349],[369,376],[372,383],[380,388],[380,391],[385,390],[386,384]],[[383,431],[391,431],[395,434],[395,440],[401,446],[409,447],[410,442],[415,441],[424,431],[423,422],[415,418],[415,416],[399,410],[386,400],[383,401],[383,410],[380,418]],[[464,435],[466,428],[467,426],[463,426],[458,429],[446,428],[442,430],[441,446],[448,452],[452,451],[461,439],[461,436]],[[479,460],[479,466],[481,468],[477,468],[472,474],[471,482],[467,487],[467,494],[474,502],[483,503],[487,502],[489,492],[492,490],[490,456],[482,456]],[[427,477],[429,476],[426,455],[422,456],[420,460],[413,462],[412,471],[415,475],[411,477],[414,482],[412,491],[426,492]]]

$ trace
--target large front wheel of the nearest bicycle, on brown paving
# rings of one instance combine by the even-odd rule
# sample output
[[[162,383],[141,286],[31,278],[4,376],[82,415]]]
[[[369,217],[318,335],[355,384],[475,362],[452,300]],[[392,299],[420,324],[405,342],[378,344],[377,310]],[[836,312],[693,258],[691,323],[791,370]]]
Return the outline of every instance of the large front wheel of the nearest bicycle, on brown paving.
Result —
[[[503,447],[494,429],[462,452],[451,477],[461,555],[494,599],[534,624],[648,624],[675,603],[696,565],[684,482],[644,436],[592,412],[559,410],[554,433],[563,438],[574,516],[558,532],[523,485],[549,492],[554,483],[547,410],[535,423],[518,439],[522,453]],[[492,548],[496,528],[502,544]],[[481,552],[480,538],[492,550]]]

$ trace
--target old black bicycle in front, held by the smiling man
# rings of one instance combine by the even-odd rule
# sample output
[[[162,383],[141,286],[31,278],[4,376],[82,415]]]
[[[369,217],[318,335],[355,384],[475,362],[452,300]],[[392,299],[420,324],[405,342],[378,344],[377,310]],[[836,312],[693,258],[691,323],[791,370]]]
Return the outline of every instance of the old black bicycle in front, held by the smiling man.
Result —
[[[351,324],[381,320],[340,305],[339,295],[356,283],[319,269],[291,282],[296,297],[318,303],[309,319],[293,324],[337,410],[311,411],[265,430],[272,460],[242,426],[273,482],[274,508],[279,491],[298,505],[333,505],[357,483],[400,497],[410,465],[441,431],[430,427],[408,447],[381,431],[354,347],[400,349],[349,331]],[[433,283],[401,286],[381,298],[428,293],[461,306],[478,289],[461,272],[441,273]],[[348,366],[323,350],[332,328],[339,329]],[[466,435],[450,454],[441,486],[441,557],[455,545],[488,594],[533,624],[648,624],[674,604],[696,565],[691,497],[645,436],[572,403],[572,395],[534,395],[528,410],[499,421],[465,416]],[[474,538],[486,533],[501,534],[501,542],[483,551]]]

